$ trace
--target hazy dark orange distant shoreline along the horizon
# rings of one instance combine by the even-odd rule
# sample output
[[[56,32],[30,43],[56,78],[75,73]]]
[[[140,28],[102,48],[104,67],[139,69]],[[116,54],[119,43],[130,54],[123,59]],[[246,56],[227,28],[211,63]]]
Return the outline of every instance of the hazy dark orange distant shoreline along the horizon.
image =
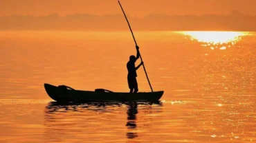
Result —
[[[256,32],[256,15],[231,12],[227,15],[148,14],[130,17],[134,31],[239,31]],[[122,14],[8,15],[0,17],[0,30],[126,31]]]

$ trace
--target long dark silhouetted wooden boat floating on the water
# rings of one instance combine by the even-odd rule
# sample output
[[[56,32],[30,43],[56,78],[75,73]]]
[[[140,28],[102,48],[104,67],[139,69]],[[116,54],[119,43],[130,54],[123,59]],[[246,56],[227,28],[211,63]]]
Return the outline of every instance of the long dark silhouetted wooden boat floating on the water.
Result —
[[[95,91],[76,90],[66,85],[54,86],[45,83],[46,93],[57,102],[156,102],[163,96],[163,91],[154,92],[113,92],[107,89]]]

